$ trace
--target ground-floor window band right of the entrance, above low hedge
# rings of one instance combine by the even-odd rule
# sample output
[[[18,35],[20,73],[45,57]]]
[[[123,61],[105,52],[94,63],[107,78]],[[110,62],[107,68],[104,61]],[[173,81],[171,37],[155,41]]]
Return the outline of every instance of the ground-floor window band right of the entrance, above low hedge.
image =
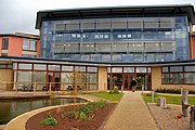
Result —
[[[162,67],[162,83],[195,83],[195,66]]]

